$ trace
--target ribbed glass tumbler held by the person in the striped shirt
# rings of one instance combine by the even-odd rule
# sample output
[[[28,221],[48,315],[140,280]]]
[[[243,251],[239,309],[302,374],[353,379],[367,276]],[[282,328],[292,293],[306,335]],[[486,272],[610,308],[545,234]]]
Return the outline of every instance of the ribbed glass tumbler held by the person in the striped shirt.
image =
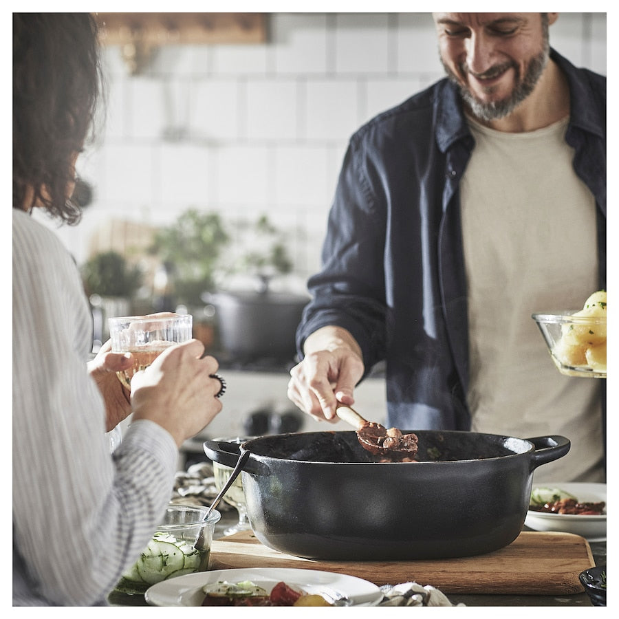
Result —
[[[147,316],[117,316],[108,318],[111,349],[116,353],[131,353],[133,365],[116,372],[120,382],[131,389],[135,372],[149,367],[164,350],[174,344],[191,340],[191,314],[149,314]]]

